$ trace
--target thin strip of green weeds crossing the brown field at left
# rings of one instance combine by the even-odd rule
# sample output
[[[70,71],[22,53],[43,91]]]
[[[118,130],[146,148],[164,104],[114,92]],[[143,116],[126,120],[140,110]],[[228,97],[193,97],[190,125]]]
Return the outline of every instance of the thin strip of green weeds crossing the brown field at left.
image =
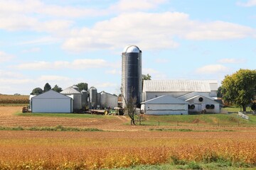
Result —
[[[31,130],[31,131],[72,131],[72,132],[98,132],[103,131],[97,128],[71,128],[58,125],[55,127],[0,127],[0,130]]]

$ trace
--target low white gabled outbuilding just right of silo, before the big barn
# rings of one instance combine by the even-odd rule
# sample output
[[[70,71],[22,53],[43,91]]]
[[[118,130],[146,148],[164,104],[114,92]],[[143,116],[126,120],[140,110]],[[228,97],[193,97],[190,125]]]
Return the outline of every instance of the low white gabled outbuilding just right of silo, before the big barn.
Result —
[[[147,115],[188,115],[188,102],[164,95],[142,102],[141,110]]]

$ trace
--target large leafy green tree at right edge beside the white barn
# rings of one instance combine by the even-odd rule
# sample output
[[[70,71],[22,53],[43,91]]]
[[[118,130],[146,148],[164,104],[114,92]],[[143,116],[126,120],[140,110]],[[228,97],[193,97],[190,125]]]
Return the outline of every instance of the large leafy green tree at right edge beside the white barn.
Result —
[[[232,75],[225,76],[221,94],[224,101],[242,106],[242,111],[246,111],[246,106],[252,103],[256,94],[256,70],[240,69]]]

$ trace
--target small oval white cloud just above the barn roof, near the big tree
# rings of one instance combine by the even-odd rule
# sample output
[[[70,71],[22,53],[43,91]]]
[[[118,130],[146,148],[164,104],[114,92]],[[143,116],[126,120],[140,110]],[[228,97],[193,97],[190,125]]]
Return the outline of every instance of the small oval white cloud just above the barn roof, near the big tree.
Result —
[[[219,72],[228,72],[228,67],[221,64],[211,64],[196,69],[197,74],[216,74]]]

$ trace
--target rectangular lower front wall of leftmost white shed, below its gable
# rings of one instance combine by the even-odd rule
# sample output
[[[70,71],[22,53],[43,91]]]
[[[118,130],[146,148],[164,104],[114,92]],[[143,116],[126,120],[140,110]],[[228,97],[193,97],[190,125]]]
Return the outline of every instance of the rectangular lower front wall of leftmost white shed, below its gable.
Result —
[[[72,113],[71,98],[32,98],[32,113]]]

